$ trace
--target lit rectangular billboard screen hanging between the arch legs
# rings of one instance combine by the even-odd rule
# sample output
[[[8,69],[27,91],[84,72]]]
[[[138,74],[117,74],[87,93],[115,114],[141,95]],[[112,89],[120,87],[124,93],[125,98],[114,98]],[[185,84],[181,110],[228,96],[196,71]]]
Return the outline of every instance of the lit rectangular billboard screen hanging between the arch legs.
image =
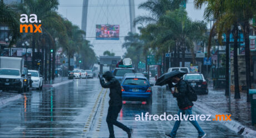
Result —
[[[119,40],[119,25],[96,24],[96,40]]]

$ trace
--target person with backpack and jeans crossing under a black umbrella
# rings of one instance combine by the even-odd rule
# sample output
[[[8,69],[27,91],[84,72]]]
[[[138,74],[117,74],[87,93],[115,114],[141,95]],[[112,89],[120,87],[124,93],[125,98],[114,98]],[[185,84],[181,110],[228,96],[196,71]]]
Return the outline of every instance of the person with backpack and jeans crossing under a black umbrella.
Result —
[[[192,115],[192,106],[194,105],[192,101],[189,100],[188,98],[188,93],[189,93],[189,85],[181,79],[181,76],[185,74],[184,71],[171,71],[170,73],[166,73],[162,76],[160,76],[159,79],[156,80],[156,85],[165,85],[168,84],[169,88],[175,87],[174,90],[171,90],[171,93],[173,94],[174,98],[176,98],[178,106],[179,106],[179,111],[178,115],[184,114],[186,115]],[[175,85],[173,85],[173,83]],[[199,126],[198,122],[196,120],[189,120],[191,124],[195,126],[195,128],[198,130],[198,137],[202,138],[205,137],[206,134],[205,132],[201,129]],[[177,120],[174,124],[173,130],[171,131],[170,134],[165,134],[167,137],[176,137],[176,132],[180,126],[180,119]]]

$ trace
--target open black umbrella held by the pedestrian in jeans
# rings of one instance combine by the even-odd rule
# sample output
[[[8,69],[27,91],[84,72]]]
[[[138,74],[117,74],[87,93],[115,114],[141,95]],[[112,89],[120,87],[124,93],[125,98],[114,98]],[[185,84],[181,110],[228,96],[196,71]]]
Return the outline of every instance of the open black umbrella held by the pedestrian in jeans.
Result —
[[[161,76],[156,80],[155,85],[163,86],[163,85],[165,85],[165,84],[168,84],[168,82],[171,81],[171,78],[173,78],[174,76],[181,77],[181,76],[183,76],[184,74],[186,74],[185,71],[179,71],[179,70],[174,70],[174,71],[171,71],[171,72],[169,72],[169,73],[165,73],[165,74],[161,75]]]

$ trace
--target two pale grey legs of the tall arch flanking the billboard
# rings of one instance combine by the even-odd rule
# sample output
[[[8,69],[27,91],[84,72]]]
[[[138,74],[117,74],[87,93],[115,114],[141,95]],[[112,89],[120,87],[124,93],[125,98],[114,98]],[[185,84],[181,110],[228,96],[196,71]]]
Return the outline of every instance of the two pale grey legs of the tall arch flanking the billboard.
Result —
[[[129,1],[129,11],[130,11],[130,31],[132,33],[136,33],[136,28],[134,27],[134,19],[135,19],[135,4],[134,0]],[[89,0],[83,0],[83,8],[82,8],[82,30],[86,32],[87,27],[87,14],[88,14],[88,3]]]

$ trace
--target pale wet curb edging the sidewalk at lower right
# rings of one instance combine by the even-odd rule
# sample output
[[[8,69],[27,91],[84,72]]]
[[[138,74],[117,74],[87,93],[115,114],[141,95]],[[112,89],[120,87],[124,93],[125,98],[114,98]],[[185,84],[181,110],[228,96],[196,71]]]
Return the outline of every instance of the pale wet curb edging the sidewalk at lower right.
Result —
[[[194,102],[194,106],[196,109],[201,110],[204,114],[208,115],[220,115],[220,113],[216,112],[213,109],[210,109],[208,106],[200,103],[200,102]],[[236,132],[237,134],[243,135],[245,137],[255,137],[256,136],[256,131],[249,129],[248,127],[240,124],[238,121],[231,120],[231,121],[218,121],[221,124],[225,125],[228,127],[228,129]]]

